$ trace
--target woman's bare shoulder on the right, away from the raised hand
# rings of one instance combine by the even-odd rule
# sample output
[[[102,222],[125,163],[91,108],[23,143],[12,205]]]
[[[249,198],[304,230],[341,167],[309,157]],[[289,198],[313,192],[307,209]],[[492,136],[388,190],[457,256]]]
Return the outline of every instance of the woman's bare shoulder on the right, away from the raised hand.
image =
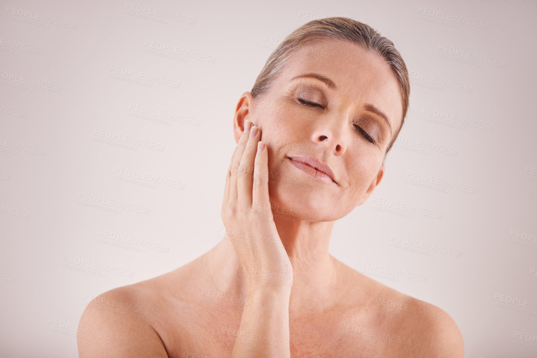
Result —
[[[349,285],[355,287],[355,291],[350,289],[351,294],[346,296],[357,298],[349,304],[360,306],[359,317],[362,317],[363,327],[359,326],[357,331],[361,330],[362,335],[369,332],[368,339],[389,341],[385,346],[393,348],[394,352],[390,354],[397,353],[397,356],[464,356],[459,327],[446,311],[344,266],[340,272],[344,273],[343,277]]]

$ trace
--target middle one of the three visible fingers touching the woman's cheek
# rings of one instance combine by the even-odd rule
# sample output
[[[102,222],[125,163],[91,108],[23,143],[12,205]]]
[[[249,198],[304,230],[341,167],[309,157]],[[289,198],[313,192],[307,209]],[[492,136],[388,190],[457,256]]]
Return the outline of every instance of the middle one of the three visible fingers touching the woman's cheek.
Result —
[[[253,162],[260,138],[261,130],[252,126],[237,174],[237,200],[246,207],[252,206]]]

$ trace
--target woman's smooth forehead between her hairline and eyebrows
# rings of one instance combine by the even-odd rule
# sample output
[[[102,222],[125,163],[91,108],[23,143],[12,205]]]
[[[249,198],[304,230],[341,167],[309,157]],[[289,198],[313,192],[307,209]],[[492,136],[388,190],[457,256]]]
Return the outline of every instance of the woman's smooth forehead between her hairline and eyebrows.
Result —
[[[295,76],[315,73],[330,78],[335,93],[353,104],[372,104],[388,114],[398,128],[403,112],[401,92],[389,64],[377,54],[343,40],[319,40],[298,49],[279,76],[279,85],[316,83]]]

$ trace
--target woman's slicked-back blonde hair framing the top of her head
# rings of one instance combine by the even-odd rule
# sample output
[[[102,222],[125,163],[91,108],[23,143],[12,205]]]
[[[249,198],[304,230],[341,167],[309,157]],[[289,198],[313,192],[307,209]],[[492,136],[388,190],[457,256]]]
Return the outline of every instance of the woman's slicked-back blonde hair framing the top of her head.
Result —
[[[322,39],[346,40],[363,48],[380,55],[390,65],[401,93],[401,102],[403,105],[403,116],[401,126],[395,132],[391,139],[386,154],[394,144],[404,118],[407,115],[410,81],[408,77],[407,65],[405,65],[401,54],[397,51],[394,43],[381,36],[369,25],[346,17],[329,17],[309,21],[282,41],[274,52],[269,56],[265,67],[261,70],[253,85],[251,93],[253,98],[263,97],[270,91],[270,87],[289,62],[291,55],[298,52],[301,48]]]

